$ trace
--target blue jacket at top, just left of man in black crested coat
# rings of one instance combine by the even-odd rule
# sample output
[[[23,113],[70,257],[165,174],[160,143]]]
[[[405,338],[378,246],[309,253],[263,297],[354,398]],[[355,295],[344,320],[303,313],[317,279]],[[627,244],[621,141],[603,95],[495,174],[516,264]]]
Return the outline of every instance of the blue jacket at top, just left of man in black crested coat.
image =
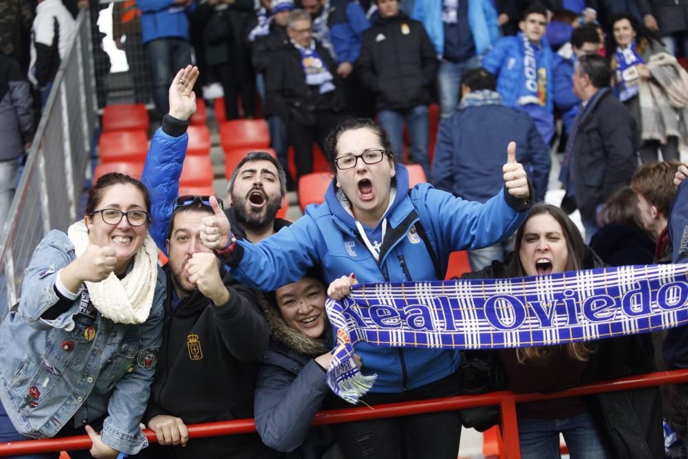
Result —
[[[355,63],[361,54],[361,35],[370,27],[358,1],[332,1],[327,27],[330,29],[330,42],[336,54],[336,62]]]

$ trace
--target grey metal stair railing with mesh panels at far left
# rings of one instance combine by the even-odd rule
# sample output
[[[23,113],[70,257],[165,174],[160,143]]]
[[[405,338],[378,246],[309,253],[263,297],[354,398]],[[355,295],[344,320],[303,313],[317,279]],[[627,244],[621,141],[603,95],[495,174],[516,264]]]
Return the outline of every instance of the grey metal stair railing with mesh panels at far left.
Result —
[[[0,234],[0,319],[21,295],[23,272],[36,245],[53,228],[76,221],[96,126],[95,75],[88,14],[43,108],[10,212]]]

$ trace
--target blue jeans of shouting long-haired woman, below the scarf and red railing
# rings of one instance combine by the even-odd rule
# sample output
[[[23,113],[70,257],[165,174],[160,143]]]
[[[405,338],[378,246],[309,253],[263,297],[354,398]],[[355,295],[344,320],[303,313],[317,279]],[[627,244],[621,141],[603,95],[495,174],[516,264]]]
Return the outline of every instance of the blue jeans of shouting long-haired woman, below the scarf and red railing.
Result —
[[[571,459],[608,457],[590,414],[565,419],[518,419],[518,434],[523,459],[560,458],[559,434]]]

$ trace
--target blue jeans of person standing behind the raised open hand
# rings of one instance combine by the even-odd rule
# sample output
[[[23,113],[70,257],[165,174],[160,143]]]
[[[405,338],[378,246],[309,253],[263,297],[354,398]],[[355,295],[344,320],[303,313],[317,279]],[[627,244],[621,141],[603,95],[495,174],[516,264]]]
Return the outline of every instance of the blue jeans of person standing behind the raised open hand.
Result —
[[[169,107],[169,87],[180,69],[191,63],[191,45],[180,38],[165,38],[146,43],[153,80],[153,100],[163,116]]]

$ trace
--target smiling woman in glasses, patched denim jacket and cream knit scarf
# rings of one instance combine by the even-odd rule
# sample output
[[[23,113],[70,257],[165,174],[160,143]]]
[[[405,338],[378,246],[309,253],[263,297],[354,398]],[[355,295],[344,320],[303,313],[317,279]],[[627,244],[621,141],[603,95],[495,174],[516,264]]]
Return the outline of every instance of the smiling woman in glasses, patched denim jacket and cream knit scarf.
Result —
[[[88,434],[90,451],[72,458],[148,445],[139,423],[165,296],[150,208],[141,182],[103,175],[83,220],[36,247],[19,304],[0,323],[0,442]]]

